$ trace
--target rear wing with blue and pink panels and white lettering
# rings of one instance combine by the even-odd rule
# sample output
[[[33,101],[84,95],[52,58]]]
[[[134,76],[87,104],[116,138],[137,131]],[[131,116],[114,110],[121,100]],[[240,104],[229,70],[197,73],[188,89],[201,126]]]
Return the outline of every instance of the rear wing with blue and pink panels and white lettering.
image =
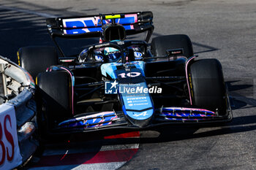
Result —
[[[112,17],[111,17],[112,16]],[[120,16],[119,18],[116,16]],[[99,37],[102,25],[111,23],[111,19],[124,26],[127,35],[139,34],[147,31],[145,41],[148,42],[153,33],[152,12],[129,12],[106,15],[87,15],[69,18],[48,18],[46,20],[48,32],[54,39]]]

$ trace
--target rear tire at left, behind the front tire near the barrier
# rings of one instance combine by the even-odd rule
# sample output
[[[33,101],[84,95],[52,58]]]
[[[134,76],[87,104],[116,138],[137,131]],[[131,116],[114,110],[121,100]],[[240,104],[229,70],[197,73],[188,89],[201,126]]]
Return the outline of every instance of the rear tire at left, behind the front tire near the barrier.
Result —
[[[31,74],[33,79],[49,66],[58,64],[58,55],[51,46],[21,47],[18,50],[18,64]]]

